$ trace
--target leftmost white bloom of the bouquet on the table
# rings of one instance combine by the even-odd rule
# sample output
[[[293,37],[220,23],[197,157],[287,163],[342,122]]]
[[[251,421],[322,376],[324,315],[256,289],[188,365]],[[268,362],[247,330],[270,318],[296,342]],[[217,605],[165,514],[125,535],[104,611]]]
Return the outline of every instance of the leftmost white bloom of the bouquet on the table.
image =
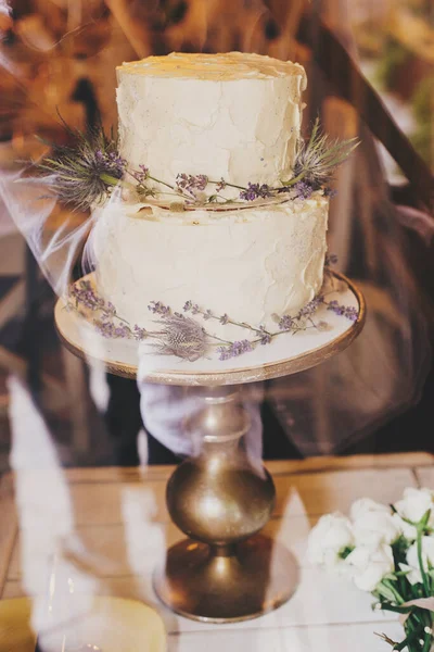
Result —
[[[340,553],[353,546],[349,519],[340,513],[327,514],[321,516],[309,534],[307,555],[310,563],[331,567],[342,561]]]

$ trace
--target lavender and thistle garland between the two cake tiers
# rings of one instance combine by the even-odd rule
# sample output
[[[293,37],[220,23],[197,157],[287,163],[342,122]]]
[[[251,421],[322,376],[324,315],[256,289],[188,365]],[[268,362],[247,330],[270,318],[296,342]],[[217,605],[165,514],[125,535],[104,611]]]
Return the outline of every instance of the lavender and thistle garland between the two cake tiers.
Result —
[[[79,210],[101,204],[115,187],[120,186],[126,199],[143,202],[150,198],[169,200],[170,208],[194,209],[209,204],[248,204],[260,200],[306,200],[316,191],[333,195],[330,184],[336,168],[355,150],[357,138],[332,139],[321,129],[317,118],[310,138],[298,141],[293,176],[279,179],[275,186],[252,180],[239,186],[220,178],[212,179],[205,174],[179,172],[175,179],[158,179],[152,170],[139,165],[129,166],[122,158],[118,142],[107,137],[102,127],[89,136],[65,125],[72,146],[54,146],[53,153],[43,159],[38,168],[49,189],[59,200]],[[238,198],[225,197],[225,189],[238,191]]]

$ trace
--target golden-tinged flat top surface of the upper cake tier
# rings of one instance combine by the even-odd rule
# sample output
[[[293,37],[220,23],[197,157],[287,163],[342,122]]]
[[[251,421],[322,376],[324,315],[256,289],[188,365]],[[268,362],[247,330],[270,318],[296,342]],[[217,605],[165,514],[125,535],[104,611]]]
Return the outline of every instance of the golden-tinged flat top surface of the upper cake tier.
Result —
[[[298,63],[242,52],[225,54],[173,52],[167,57],[148,57],[141,61],[124,63],[116,70],[128,75],[209,82],[272,79],[273,77],[305,75],[304,68]]]

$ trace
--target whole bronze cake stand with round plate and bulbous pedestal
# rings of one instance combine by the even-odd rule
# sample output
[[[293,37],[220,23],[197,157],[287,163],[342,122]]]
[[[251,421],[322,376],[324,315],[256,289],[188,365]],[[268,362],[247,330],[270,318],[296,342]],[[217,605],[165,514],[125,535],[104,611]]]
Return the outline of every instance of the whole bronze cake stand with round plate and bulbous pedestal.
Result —
[[[297,586],[292,554],[258,534],[271,516],[276,491],[269,473],[240,444],[250,428],[241,385],[312,367],[357,337],[366,317],[363,297],[344,276],[333,278],[340,303],[357,308],[355,322],[329,312],[327,331],[282,335],[279,342],[225,362],[149,353],[139,362],[137,343],[105,340],[58,301],[56,328],[73,353],[103,362],[119,376],[190,386],[202,401],[183,424],[192,436],[201,435],[201,453],[176,468],[166,492],[168,512],[189,538],[168,550],[154,575],[156,593],[176,613],[213,623],[254,618],[284,603]]]

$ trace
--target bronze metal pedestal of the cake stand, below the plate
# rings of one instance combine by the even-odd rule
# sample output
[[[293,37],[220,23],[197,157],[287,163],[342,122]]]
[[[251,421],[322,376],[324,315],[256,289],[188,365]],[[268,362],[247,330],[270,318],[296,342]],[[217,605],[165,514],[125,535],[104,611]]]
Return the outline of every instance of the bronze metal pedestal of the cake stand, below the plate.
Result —
[[[286,549],[257,535],[271,516],[276,491],[269,473],[255,467],[242,447],[250,418],[241,391],[191,391],[203,404],[186,427],[202,435],[202,449],[177,467],[166,493],[174,523],[190,538],[167,552],[154,587],[167,606],[190,618],[254,618],[292,595],[297,565]]]

